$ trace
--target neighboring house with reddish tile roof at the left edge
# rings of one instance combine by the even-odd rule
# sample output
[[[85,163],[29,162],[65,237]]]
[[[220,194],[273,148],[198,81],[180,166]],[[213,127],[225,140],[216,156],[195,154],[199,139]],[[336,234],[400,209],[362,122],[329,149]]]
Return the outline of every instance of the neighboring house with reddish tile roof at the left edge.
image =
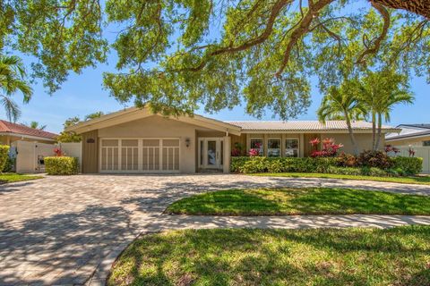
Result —
[[[4,145],[11,145],[18,140],[55,143],[57,136],[55,133],[0,120],[0,143]]]

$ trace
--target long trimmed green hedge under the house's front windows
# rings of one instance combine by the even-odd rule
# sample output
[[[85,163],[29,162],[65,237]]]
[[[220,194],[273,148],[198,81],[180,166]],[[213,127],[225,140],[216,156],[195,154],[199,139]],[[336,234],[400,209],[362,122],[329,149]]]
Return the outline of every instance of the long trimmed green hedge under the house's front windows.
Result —
[[[350,162],[356,160],[344,155],[316,158],[268,158],[263,156],[232,157],[231,172],[323,172],[384,177],[413,175],[422,170],[422,158],[417,157],[384,158],[385,162],[383,165],[385,168],[376,167],[374,164],[350,166],[351,164],[346,164],[346,161]]]

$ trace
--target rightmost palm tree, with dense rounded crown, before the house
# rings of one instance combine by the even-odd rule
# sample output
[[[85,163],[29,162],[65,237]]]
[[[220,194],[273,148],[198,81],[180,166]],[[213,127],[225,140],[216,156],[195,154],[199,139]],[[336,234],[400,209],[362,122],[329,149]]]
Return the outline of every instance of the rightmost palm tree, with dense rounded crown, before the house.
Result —
[[[368,71],[359,83],[359,98],[372,120],[372,148],[379,149],[382,138],[383,118],[390,121],[392,107],[412,104],[414,97],[409,92],[406,77],[391,70]]]

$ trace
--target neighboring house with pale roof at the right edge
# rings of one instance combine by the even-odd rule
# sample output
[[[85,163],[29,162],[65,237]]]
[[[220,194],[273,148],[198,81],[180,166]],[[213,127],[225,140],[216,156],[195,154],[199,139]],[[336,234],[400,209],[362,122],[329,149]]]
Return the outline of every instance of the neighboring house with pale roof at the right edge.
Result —
[[[400,133],[387,133],[385,141],[392,146],[430,146],[430,124],[400,124]]]

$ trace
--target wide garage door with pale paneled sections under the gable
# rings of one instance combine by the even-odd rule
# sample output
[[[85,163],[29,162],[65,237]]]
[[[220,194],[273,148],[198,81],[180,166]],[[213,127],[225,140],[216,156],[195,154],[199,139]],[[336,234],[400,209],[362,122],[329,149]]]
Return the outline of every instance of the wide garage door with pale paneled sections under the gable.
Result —
[[[178,172],[179,139],[100,139],[100,172]]]

